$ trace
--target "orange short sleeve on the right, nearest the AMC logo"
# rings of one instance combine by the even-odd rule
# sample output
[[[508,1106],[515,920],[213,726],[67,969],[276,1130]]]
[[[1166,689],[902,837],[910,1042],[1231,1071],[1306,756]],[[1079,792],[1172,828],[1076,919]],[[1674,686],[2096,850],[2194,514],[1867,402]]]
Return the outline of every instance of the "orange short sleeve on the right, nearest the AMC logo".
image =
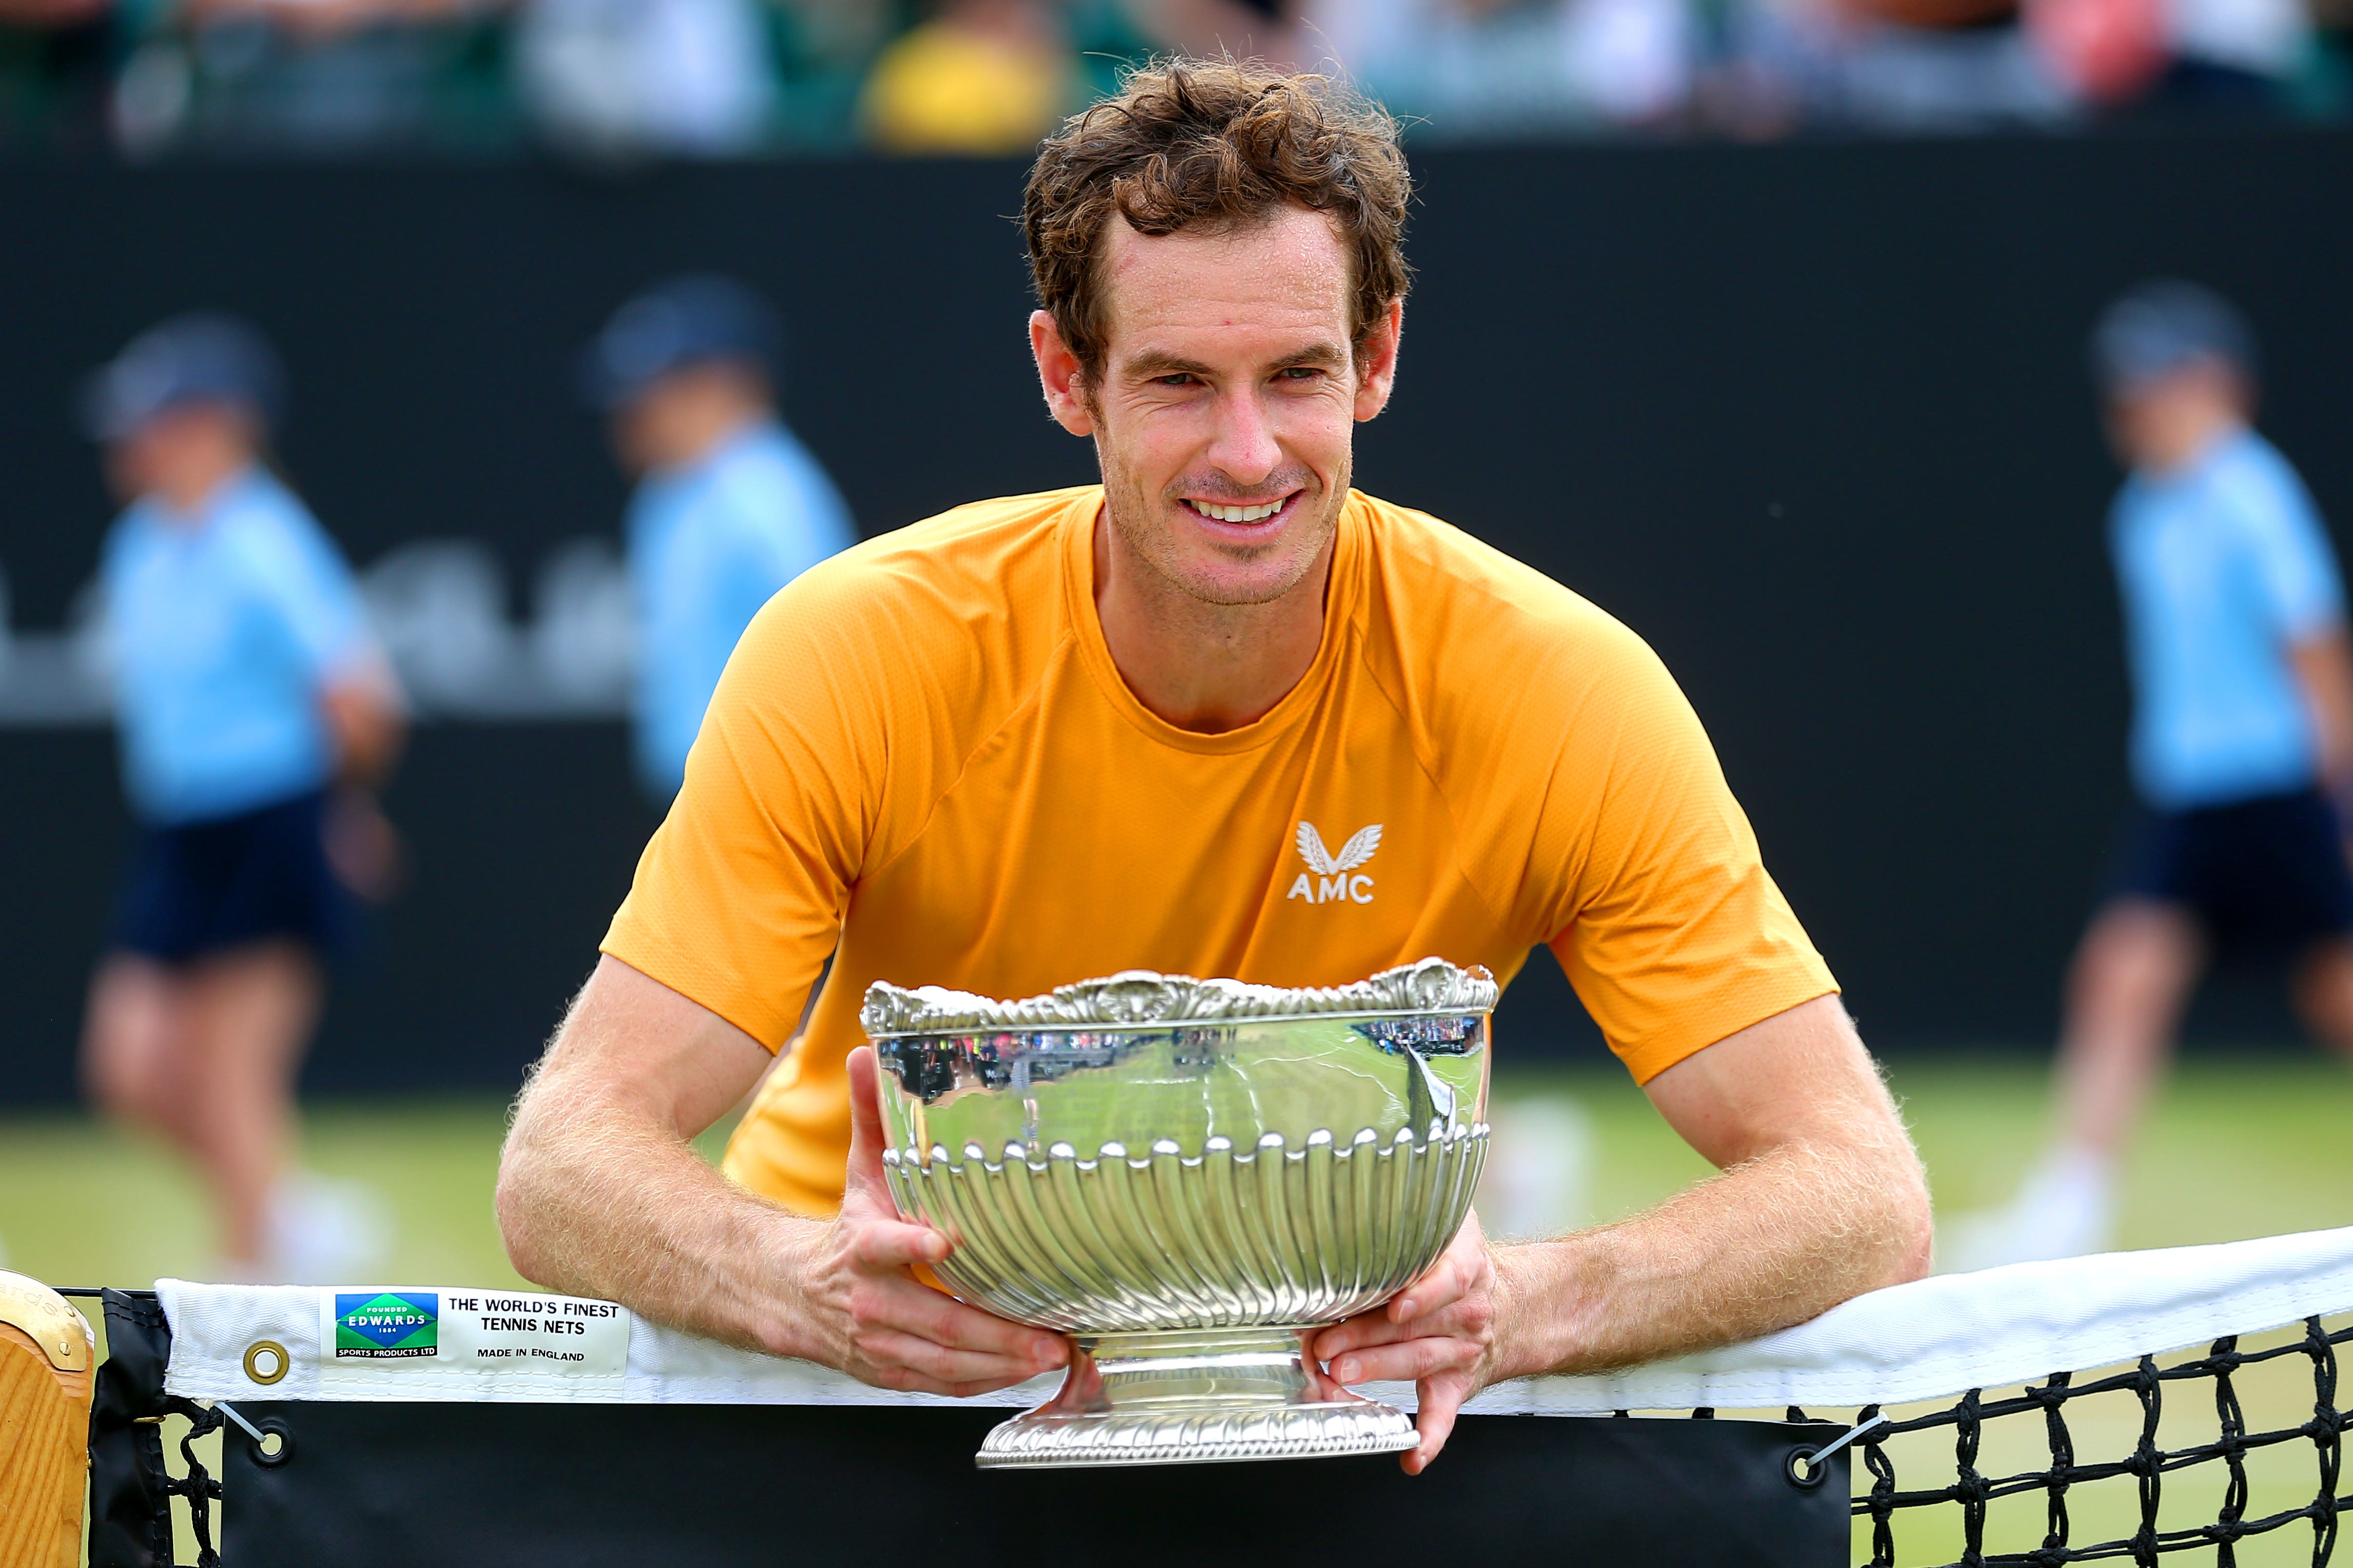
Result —
[[[1635,1081],[1838,990],[1765,875],[1699,715],[1633,632],[1553,764],[1539,860],[1565,867],[1551,947]],[[1558,914],[1555,914],[1558,917]]]

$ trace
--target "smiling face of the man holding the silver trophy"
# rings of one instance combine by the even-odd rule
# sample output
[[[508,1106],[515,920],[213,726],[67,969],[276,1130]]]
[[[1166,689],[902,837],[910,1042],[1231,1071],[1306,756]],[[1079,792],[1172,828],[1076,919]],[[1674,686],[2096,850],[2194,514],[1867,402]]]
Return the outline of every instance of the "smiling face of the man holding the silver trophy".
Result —
[[[1280,599],[1339,527],[1355,421],[1388,400],[1395,313],[1360,371],[1348,252],[1304,207],[1207,235],[1113,221],[1104,275],[1101,381],[1056,388],[1047,343],[1040,369],[1056,418],[1094,435],[1111,527],[1195,599]]]

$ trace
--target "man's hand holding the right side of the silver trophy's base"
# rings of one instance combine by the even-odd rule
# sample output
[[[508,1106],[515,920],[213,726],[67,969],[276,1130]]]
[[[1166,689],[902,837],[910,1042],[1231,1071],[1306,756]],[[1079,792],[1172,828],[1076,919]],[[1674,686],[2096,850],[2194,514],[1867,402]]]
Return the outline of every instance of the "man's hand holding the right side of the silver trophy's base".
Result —
[[[1421,1441],[1400,1462],[1405,1474],[1419,1476],[1447,1446],[1464,1401],[1508,1375],[1501,1371],[1508,1305],[1508,1281],[1473,1213],[1428,1274],[1388,1305],[1325,1328],[1315,1335],[1313,1356],[1339,1382],[1414,1385]]]

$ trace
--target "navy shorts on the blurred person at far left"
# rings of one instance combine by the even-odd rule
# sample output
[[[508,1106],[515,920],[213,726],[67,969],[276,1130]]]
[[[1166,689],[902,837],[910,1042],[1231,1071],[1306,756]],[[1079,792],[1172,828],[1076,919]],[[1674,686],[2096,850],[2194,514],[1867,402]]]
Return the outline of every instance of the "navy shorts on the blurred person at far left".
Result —
[[[115,947],[188,964],[231,947],[296,940],[332,959],[355,905],[327,863],[320,792],[205,823],[148,827],[115,914]]]

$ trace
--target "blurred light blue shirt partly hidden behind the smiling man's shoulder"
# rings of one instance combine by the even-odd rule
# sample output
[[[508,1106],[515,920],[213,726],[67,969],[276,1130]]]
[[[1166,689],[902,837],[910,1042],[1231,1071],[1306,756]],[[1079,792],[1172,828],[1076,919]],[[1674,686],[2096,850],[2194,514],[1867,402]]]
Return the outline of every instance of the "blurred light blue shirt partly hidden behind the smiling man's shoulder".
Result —
[[[704,708],[753,614],[854,543],[833,480],[774,421],[638,487],[628,574],[638,590],[638,776],[647,795],[668,804],[685,783]]]

